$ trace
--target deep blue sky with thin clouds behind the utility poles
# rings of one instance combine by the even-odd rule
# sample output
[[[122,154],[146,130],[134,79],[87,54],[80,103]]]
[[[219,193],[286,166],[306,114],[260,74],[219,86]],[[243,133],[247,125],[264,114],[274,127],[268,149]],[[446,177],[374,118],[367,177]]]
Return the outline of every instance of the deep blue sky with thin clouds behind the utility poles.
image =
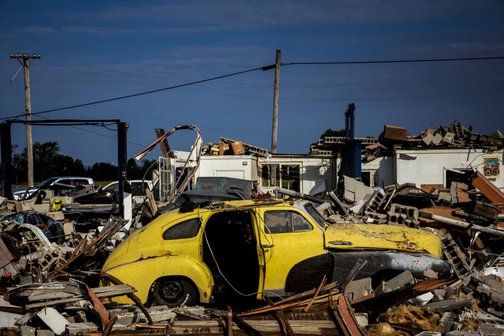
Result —
[[[11,52],[41,54],[30,68],[37,112],[258,68],[275,62],[276,49],[285,63],[502,56],[504,2],[0,1],[0,117],[25,109],[22,72],[10,82],[20,67]],[[128,122],[128,157],[154,128],[182,123],[198,125],[205,142],[270,149],[273,80],[273,70],[256,71],[43,116]],[[504,131],[504,60],[283,66],[278,152],[307,153],[327,128],[344,127],[352,102],[360,137],[377,137],[385,123],[416,135],[454,119]],[[94,133],[37,126],[33,139],[58,141],[85,164],[116,163],[115,132],[86,129]],[[189,150],[194,137],[168,140]],[[13,126],[13,143],[26,146],[23,126]]]

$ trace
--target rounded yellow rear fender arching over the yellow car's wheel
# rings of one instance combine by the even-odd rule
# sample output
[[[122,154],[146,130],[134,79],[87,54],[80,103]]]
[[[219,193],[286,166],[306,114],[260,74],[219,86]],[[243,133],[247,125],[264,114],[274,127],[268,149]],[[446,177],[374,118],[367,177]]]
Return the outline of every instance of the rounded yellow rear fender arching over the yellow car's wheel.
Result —
[[[124,284],[134,287],[136,296],[143,303],[147,303],[152,284],[163,277],[183,277],[189,279],[196,286],[200,302],[210,303],[212,287],[214,285],[210,270],[203,262],[180,255],[162,255],[129,262],[107,270],[108,274],[116,277]],[[105,286],[102,282],[100,286]],[[127,296],[112,298],[120,304],[132,304]]]

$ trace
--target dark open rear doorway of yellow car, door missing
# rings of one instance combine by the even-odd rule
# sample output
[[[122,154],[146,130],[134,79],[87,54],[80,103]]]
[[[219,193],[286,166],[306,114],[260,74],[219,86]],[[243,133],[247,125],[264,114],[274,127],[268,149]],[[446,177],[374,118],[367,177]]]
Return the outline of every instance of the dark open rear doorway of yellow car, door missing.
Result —
[[[255,293],[259,288],[259,255],[254,221],[250,212],[232,210],[210,216],[203,237],[203,262],[216,284],[228,294]]]

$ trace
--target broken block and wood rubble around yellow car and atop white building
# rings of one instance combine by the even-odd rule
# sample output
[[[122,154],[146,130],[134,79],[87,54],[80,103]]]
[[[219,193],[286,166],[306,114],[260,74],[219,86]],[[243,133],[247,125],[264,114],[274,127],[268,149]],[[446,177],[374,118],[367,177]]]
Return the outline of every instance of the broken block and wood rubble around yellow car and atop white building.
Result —
[[[500,133],[482,135],[455,122],[410,138],[406,129],[385,125],[379,139],[366,141],[366,158],[380,155],[384,148],[406,145],[503,146]],[[323,152],[326,143],[338,142],[326,138],[312,151]],[[208,144],[204,152],[269,154],[227,138]],[[430,192],[414,183],[371,188],[348,176],[341,181],[340,188],[322,198],[282,188],[279,193],[316,203],[332,225],[367,223],[435,233],[443,242],[443,258],[452,265],[453,277],[437,279],[431,274],[427,275],[430,279],[419,280],[409,271],[382,279],[352,281],[349,276],[347,284],[323,281],[319,288],[275,302],[268,298],[253,308],[239,303],[233,303],[234,307],[146,307],[134,300],[136,289],[128,284],[98,285],[107,277],[101,266],[110,251],[159,215],[161,205],[159,210],[146,200],[132,220],[110,216],[79,223],[53,211],[54,202],[36,207],[33,201],[0,197],[0,333],[504,334],[504,194],[491,181],[475,172],[450,188]],[[95,224],[91,230],[90,222]],[[359,270],[354,267],[353,276]],[[123,295],[136,304],[110,301]]]

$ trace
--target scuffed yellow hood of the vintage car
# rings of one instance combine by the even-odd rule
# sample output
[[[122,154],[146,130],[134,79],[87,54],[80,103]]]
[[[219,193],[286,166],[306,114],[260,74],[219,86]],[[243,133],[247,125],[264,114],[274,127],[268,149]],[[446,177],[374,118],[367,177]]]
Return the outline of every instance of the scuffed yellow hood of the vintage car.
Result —
[[[333,224],[325,232],[331,249],[398,250],[441,256],[442,244],[430,232],[394,225]]]

